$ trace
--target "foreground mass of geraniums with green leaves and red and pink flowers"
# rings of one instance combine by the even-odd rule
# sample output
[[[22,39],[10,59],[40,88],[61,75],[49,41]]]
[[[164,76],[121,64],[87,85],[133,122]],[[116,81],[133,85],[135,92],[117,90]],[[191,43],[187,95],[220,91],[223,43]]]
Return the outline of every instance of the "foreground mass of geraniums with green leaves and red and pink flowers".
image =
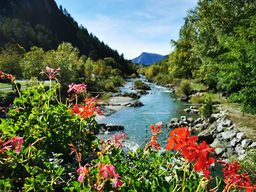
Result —
[[[61,101],[60,84],[51,87],[60,68],[46,68],[50,89],[44,85],[27,88],[1,119],[2,191],[213,191],[224,192],[256,188],[238,162],[226,164],[224,180],[216,177],[210,188],[214,148],[197,136],[190,137],[187,128],[170,132],[166,150],[161,152],[157,136],[161,127],[151,125],[152,136],[145,148],[124,154],[124,131],[109,140],[98,140],[94,120],[102,114],[98,96],[85,97],[86,85],[70,84],[72,97]],[[15,77],[1,71],[16,85]],[[19,92],[19,90],[18,90]],[[83,104],[77,103],[84,97]],[[64,102],[64,103],[62,103]],[[142,143],[142,144],[143,144]],[[142,146],[142,144],[140,146]],[[155,148],[156,150],[153,150]],[[241,172],[238,173],[238,170]]]

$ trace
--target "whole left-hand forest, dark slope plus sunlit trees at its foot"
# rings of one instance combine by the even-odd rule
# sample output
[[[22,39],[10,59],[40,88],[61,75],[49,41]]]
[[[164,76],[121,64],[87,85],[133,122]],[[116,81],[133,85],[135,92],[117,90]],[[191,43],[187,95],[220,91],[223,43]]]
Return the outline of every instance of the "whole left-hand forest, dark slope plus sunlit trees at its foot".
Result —
[[[2,1],[0,47],[1,70],[16,77],[38,76],[45,66],[60,67],[62,83],[67,79],[89,81],[92,73],[97,80],[104,79],[106,73],[136,73],[130,60],[78,26],[54,0]]]

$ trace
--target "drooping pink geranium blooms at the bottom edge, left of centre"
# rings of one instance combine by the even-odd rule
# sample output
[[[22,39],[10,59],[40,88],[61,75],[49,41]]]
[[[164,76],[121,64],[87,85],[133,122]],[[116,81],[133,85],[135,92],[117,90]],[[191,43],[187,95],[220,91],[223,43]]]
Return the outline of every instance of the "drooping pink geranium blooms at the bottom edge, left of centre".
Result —
[[[99,192],[102,191],[105,183],[108,180],[112,181],[112,188],[117,188],[118,186],[123,185],[122,181],[119,179],[120,176],[118,173],[116,173],[116,168],[113,165],[106,165],[103,163],[98,163],[94,165],[94,168],[99,167],[99,174],[95,184],[90,175],[90,169],[87,166],[91,167],[91,165],[86,164],[84,165],[84,167],[81,166],[79,169],[77,169],[76,172],[80,173],[77,179],[78,181],[84,182],[84,176],[86,176],[90,180],[93,188],[97,189]],[[102,180],[102,177],[104,181],[99,185],[99,182],[100,180]]]

